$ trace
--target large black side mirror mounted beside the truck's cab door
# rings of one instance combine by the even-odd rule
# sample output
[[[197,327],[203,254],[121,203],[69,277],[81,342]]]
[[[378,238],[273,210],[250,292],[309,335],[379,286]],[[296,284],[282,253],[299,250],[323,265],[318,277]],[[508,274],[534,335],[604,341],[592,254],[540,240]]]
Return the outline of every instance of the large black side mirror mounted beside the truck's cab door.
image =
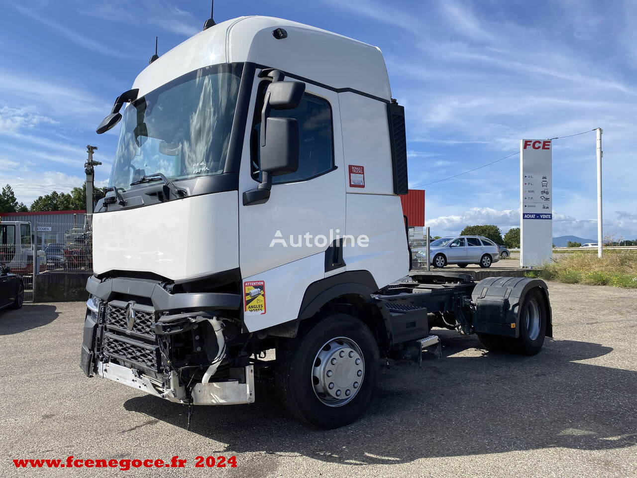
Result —
[[[262,182],[243,193],[243,205],[268,201],[272,176],[294,173],[299,168],[299,123],[293,118],[271,118],[271,110],[292,110],[299,106],[305,92],[303,82],[275,81],[268,85],[261,111],[259,157]]]

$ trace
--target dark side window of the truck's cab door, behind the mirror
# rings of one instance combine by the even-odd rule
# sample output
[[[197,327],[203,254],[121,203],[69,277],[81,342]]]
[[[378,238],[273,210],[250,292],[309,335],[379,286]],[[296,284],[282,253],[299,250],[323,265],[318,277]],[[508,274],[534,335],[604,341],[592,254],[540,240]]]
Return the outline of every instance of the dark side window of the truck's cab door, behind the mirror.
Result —
[[[255,105],[254,124],[250,136],[252,177],[261,182],[259,167],[259,138],[261,134],[261,110],[266,89],[270,82],[259,85]],[[293,110],[271,110],[271,117],[294,118],[299,122],[299,169],[294,173],[272,178],[272,184],[304,181],[334,169],[334,141],[332,108],[329,101],[305,93],[301,103]]]

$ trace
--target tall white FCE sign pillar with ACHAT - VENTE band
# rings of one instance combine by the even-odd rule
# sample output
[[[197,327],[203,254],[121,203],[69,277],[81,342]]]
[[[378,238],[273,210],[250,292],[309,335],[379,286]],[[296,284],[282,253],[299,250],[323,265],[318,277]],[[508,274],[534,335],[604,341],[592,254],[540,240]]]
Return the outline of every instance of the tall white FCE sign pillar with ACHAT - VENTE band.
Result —
[[[550,140],[520,140],[520,266],[553,257],[553,182]]]

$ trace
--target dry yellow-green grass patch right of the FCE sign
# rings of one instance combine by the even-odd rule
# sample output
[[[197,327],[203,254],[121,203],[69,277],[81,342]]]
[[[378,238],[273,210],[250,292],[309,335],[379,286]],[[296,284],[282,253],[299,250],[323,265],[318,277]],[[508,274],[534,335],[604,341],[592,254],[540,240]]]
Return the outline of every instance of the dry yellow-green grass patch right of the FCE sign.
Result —
[[[637,254],[626,250],[606,250],[600,259],[587,252],[575,252],[544,264],[541,270],[527,272],[526,277],[559,280],[566,284],[637,289]]]

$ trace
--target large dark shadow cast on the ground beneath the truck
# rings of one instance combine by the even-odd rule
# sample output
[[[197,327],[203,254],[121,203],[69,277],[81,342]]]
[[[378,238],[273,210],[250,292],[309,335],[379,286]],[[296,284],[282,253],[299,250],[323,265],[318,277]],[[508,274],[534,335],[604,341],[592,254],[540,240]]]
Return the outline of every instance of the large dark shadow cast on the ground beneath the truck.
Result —
[[[422,368],[382,368],[370,409],[338,430],[315,430],[292,419],[271,384],[257,384],[257,403],[196,407],[190,431],[186,408],[152,396],[125,409],[227,444],[219,452],[298,454],[352,465],[418,458],[503,453],[550,447],[604,450],[637,442],[637,373],[577,363],[610,347],[550,340],[534,357],[457,356],[478,347],[473,338],[439,331],[444,357]],[[473,351],[475,352],[475,351]]]

